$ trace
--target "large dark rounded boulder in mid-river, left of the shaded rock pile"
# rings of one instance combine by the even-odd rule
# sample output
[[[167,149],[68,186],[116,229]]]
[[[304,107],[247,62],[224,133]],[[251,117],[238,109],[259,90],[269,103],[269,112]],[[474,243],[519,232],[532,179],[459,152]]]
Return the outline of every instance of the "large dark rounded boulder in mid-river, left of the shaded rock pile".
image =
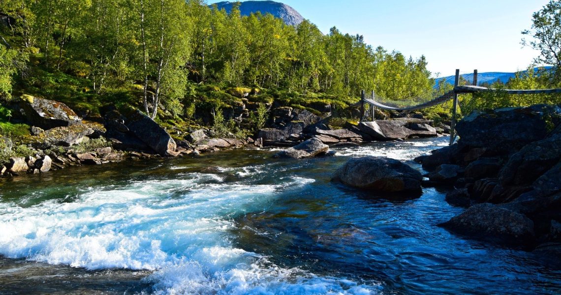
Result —
[[[367,156],[348,160],[333,174],[334,181],[376,192],[421,192],[421,173],[389,158]]]

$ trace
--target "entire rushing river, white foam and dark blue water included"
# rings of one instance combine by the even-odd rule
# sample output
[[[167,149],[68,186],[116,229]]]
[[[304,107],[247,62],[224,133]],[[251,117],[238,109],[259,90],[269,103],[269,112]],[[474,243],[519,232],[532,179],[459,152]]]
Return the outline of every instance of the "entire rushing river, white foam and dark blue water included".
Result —
[[[532,253],[450,234],[445,192],[330,182],[350,156],[411,160],[447,137],[277,160],[268,150],[76,167],[0,182],[0,294],[561,292]]]

